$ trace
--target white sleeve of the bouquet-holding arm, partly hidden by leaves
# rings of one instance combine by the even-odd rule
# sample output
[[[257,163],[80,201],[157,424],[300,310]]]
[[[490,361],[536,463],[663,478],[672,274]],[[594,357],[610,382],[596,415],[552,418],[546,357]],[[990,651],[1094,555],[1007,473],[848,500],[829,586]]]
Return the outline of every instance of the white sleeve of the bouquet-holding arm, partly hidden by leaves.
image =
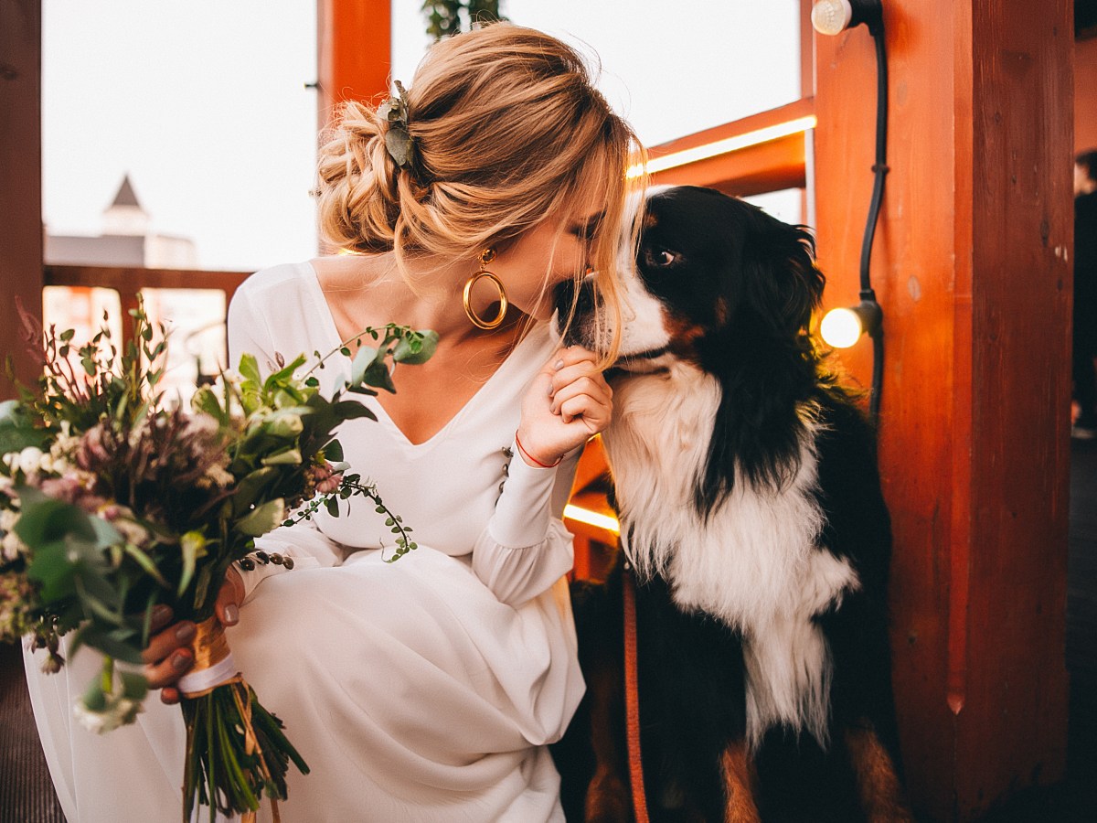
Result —
[[[241,286],[233,297],[228,307],[228,359],[229,367],[235,369],[244,353],[253,354],[262,373],[274,369],[275,349],[270,331],[270,318],[257,311],[251,297],[251,281]],[[256,288],[263,288],[262,285]],[[304,342],[302,350],[305,349]],[[296,357],[297,351],[281,352],[287,358]],[[256,549],[268,554],[278,553],[293,557],[294,568],[309,566],[333,566],[342,563],[346,552],[336,541],[331,540],[316,526],[306,520],[292,527],[279,527],[274,531],[256,540]],[[240,572],[244,579],[245,601],[251,596],[256,586],[272,574],[285,571],[284,566],[273,563],[257,564],[251,572]]]

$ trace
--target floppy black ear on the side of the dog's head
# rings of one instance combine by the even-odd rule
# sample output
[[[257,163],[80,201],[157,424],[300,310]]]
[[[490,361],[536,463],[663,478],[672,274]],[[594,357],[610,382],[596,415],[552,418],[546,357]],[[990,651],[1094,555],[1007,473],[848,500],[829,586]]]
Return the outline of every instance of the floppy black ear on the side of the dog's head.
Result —
[[[746,300],[774,331],[806,332],[823,300],[826,279],[815,266],[815,240],[804,226],[790,226],[750,207],[743,234]]]

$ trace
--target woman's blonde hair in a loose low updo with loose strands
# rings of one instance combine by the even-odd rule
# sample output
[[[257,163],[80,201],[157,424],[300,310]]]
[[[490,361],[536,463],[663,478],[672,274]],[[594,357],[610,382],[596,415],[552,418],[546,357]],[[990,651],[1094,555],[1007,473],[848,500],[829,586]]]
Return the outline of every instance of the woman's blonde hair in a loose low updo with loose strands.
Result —
[[[619,248],[622,238],[635,241],[640,224],[637,215],[625,225],[625,203],[643,185],[626,169],[643,149],[583,56],[542,32],[494,23],[434,44],[407,102],[415,150],[404,168],[385,148],[388,123],[376,108],[342,105],[319,154],[324,237],[355,251],[394,251],[405,274],[418,255],[472,261],[563,215],[588,181],[604,180],[588,261],[611,318],[607,360],[615,356]]]

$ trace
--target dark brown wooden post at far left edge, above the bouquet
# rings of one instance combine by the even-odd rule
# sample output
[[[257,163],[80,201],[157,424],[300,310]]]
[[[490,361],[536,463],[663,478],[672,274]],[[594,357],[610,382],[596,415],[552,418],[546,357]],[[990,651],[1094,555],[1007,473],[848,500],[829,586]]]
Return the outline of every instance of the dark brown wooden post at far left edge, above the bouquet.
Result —
[[[42,319],[42,3],[0,3],[0,361],[37,375],[24,353],[15,297]],[[0,369],[0,399],[14,388]]]

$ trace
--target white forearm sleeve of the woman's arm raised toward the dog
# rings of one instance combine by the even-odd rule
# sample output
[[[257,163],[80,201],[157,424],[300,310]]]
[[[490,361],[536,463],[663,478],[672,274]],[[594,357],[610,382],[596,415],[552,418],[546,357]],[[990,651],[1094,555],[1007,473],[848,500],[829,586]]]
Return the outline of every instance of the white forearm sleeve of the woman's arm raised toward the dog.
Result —
[[[530,466],[513,458],[495,514],[473,549],[473,571],[510,606],[536,597],[575,563],[572,533],[561,516],[581,450],[558,466]]]

